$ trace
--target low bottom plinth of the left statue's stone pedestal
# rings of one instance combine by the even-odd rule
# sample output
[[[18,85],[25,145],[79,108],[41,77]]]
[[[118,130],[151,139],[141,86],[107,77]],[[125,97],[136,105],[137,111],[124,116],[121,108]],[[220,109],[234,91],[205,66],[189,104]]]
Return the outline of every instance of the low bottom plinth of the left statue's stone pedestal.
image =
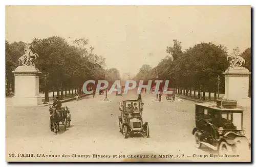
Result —
[[[13,97],[14,106],[29,106],[29,105],[40,105],[42,103],[41,97]]]

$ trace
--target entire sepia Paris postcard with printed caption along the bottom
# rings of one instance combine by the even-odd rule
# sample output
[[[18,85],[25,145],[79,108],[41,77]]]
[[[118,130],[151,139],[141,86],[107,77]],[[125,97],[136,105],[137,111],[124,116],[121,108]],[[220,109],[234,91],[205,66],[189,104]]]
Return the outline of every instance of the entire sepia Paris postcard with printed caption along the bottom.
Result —
[[[250,6],[6,6],[6,161],[250,162]]]

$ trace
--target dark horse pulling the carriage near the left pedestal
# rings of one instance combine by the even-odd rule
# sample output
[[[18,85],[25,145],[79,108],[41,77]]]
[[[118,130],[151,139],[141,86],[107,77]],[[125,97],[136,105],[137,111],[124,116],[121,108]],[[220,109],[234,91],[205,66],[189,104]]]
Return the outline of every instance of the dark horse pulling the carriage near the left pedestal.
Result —
[[[54,131],[55,134],[57,134],[57,131],[60,131],[59,130],[59,122],[61,118],[60,113],[57,111],[56,108],[53,108],[53,107],[50,107],[49,112],[50,112],[51,130]]]

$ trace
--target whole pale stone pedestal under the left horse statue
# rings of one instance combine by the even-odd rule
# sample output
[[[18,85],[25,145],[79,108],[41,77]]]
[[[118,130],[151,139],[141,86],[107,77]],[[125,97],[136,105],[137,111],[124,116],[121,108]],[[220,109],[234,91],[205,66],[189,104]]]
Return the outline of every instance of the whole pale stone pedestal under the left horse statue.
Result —
[[[15,91],[14,106],[39,105],[39,75],[41,72],[34,66],[19,66],[14,71]]]

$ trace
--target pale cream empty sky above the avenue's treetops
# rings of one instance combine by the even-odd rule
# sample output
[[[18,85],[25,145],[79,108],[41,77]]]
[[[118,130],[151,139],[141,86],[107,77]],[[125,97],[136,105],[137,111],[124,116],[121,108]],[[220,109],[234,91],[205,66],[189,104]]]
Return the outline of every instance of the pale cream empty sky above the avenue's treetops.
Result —
[[[85,37],[108,68],[136,74],[143,64],[156,66],[173,39],[182,50],[213,42],[244,51],[250,12],[249,6],[13,6],[6,7],[6,40]]]

